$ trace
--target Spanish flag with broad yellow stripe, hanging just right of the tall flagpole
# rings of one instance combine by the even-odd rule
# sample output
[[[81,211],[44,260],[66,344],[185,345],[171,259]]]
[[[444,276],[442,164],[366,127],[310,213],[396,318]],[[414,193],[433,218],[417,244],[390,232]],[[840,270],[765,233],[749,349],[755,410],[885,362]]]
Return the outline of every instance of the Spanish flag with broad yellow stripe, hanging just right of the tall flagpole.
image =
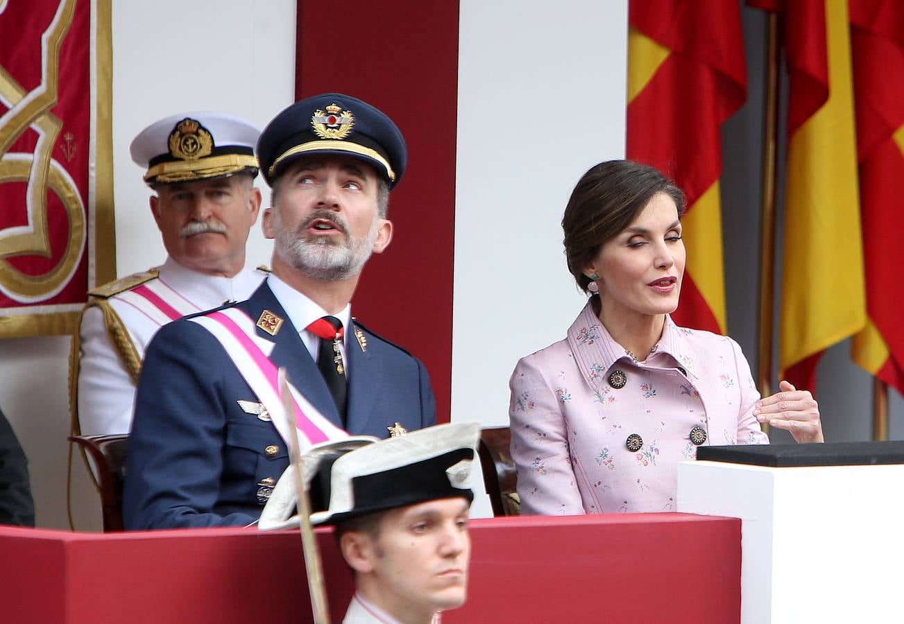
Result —
[[[813,390],[824,349],[866,325],[848,7],[751,4],[784,12],[790,92],[778,363],[780,376]]]

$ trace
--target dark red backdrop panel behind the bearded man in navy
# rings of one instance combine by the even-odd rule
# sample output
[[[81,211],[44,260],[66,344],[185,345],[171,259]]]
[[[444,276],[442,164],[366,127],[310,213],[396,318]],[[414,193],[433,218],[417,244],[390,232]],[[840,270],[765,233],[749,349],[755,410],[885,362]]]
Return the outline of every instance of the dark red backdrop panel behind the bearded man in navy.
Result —
[[[452,374],[458,3],[407,5],[349,0],[340,25],[323,3],[299,0],[296,96],[362,98],[405,135],[408,169],[390,197],[392,243],[364,269],[353,314],[424,362],[442,423]]]

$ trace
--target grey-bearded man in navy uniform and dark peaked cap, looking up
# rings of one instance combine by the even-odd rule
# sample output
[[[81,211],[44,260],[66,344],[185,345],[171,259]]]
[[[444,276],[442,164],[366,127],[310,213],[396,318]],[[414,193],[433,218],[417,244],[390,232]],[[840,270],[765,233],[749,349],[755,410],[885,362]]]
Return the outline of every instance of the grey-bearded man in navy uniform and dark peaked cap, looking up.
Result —
[[[170,323],[147,349],[123,493],[127,529],[255,522],[288,465],[276,396],[286,368],[301,412],[322,426],[387,437],[436,423],[426,368],[352,318],[372,253],[391,240],[391,189],[407,150],[376,107],[341,93],[306,98],[261,133],[273,189],[263,230],[273,272],[249,299]],[[387,302],[404,313],[404,304]],[[299,412],[300,414],[300,412]],[[300,417],[300,416],[297,416]]]

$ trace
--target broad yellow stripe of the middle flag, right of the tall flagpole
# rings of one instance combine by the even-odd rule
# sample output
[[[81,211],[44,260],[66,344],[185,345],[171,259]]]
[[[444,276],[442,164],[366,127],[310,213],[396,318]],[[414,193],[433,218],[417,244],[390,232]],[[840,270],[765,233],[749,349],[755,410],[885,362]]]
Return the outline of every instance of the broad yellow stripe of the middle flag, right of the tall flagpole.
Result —
[[[779,367],[866,324],[847,3],[825,2],[829,99],[791,136]]]

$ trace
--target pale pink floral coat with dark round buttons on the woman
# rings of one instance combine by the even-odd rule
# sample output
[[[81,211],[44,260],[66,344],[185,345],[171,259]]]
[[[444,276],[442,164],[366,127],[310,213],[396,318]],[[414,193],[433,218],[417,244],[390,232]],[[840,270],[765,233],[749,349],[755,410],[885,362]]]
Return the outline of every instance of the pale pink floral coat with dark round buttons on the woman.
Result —
[[[525,514],[673,511],[678,462],[702,444],[765,444],[738,343],[666,317],[643,362],[588,303],[568,337],[519,360],[509,382]]]

